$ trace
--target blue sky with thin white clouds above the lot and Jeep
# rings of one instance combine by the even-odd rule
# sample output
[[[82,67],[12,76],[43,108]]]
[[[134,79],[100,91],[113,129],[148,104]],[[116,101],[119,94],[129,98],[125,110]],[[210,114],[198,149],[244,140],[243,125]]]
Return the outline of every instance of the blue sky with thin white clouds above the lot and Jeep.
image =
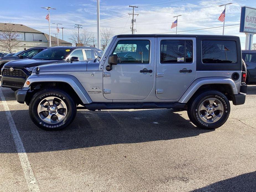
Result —
[[[223,11],[220,4],[233,2],[226,9],[225,35],[239,35],[242,48],[244,48],[245,35],[239,33],[241,6],[256,7],[255,0],[137,0],[137,1],[100,1],[101,27],[111,28],[115,34],[131,33],[131,12],[129,5],[139,5],[135,9],[139,16],[136,17],[136,33],[167,33],[175,32],[170,29],[172,18],[182,15],[178,20],[178,32],[209,27],[219,27],[223,23],[218,17]],[[5,1],[1,4],[0,22],[12,22],[24,24],[39,31],[49,33],[46,9],[40,7],[51,6],[57,10],[51,10],[51,23],[62,23],[64,40],[69,41],[69,36],[74,30],[74,24],[82,24],[83,29],[92,31],[95,36],[96,25],[96,0],[45,0],[45,1]],[[56,33],[56,28],[51,25],[51,33]],[[205,29],[191,32],[179,32],[187,34],[222,34],[222,28]],[[61,33],[60,33],[61,35]],[[256,35],[254,37],[256,42]]]

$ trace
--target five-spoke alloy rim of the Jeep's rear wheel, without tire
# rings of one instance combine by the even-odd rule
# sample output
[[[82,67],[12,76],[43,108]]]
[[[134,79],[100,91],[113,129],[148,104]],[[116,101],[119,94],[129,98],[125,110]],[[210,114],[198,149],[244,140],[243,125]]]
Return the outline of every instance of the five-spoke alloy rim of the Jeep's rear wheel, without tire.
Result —
[[[205,99],[198,108],[199,117],[205,123],[215,123],[223,115],[224,106],[219,99]]]

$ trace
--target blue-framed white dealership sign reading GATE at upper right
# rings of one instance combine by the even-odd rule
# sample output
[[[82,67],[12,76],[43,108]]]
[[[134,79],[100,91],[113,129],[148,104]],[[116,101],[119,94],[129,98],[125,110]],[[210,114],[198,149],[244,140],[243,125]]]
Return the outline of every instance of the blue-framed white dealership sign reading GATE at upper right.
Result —
[[[256,33],[256,8],[241,7],[241,33]]]

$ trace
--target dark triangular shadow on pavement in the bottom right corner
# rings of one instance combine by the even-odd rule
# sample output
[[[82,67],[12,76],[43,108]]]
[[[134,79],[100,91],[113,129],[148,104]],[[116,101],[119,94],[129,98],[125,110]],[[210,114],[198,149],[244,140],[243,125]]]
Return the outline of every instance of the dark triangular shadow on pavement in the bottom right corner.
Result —
[[[256,189],[256,172],[245,173],[237,177],[219,181],[206,187],[194,190],[193,192],[204,192],[204,191],[255,191]]]

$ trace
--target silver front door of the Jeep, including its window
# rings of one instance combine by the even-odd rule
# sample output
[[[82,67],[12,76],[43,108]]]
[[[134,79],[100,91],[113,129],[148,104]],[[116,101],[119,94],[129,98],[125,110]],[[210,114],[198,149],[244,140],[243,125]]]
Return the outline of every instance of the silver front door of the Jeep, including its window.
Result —
[[[117,38],[109,55],[118,56],[118,64],[107,71],[104,63],[104,97],[113,100],[146,98],[154,85],[155,38]]]

